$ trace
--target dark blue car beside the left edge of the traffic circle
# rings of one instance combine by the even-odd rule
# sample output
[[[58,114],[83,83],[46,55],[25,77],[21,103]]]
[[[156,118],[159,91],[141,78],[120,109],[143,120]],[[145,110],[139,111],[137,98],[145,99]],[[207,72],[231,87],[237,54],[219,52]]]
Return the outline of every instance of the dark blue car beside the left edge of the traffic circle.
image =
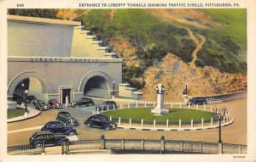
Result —
[[[112,130],[118,126],[117,123],[107,120],[107,117],[103,115],[90,116],[88,120],[84,121],[84,125],[89,127],[104,128],[106,130]]]

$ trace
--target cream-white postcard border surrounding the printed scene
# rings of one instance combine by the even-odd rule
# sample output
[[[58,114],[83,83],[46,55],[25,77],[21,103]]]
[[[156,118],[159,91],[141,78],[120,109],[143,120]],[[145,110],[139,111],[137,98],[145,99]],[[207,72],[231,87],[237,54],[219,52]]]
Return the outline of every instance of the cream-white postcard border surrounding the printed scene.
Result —
[[[245,159],[234,159],[234,154],[130,154],[130,155],[41,155],[9,156],[7,151],[7,8],[79,8],[79,3],[239,3],[239,8],[247,8],[247,154]],[[112,7],[111,7],[112,8]],[[189,7],[187,7],[189,8]],[[256,161],[256,1],[255,0],[6,0],[0,1],[0,161]],[[239,154],[237,154],[239,155]]]

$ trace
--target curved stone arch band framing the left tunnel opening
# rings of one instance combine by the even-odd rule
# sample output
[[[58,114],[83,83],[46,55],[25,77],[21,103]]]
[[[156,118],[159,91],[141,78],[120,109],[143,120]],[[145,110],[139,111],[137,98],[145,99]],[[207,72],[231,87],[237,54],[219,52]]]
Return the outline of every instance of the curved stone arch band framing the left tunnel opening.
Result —
[[[26,80],[27,78],[36,78],[38,79],[38,81],[40,81],[42,83],[42,92],[43,93],[52,93],[53,92],[53,87],[51,85],[51,83],[46,79],[46,77],[39,73],[39,72],[35,72],[35,71],[26,71],[26,72],[22,72],[18,75],[15,75],[15,77],[9,81],[9,85],[8,85],[8,92],[7,95],[13,96],[13,94],[15,93],[15,88],[20,84],[21,81]]]

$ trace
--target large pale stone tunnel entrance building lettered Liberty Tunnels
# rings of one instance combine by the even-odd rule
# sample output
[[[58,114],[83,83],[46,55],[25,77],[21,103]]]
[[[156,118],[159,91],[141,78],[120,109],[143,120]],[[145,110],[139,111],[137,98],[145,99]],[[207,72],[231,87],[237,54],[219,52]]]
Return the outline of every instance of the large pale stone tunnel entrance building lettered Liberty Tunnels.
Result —
[[[112,98],[122,82],[122,63],[80,22],[8,15],[10,100],[25,90],[45,102]]]

